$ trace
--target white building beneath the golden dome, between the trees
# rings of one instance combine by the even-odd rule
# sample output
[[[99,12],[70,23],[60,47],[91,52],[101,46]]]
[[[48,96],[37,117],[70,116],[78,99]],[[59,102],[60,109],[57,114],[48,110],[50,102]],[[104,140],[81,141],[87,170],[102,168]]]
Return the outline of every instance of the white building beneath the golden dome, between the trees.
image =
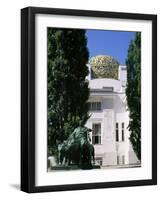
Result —
[[[127,129],[126,66],[119,66],[119,80],[91,79],[88,66],[91,117],[86,126],[92,129],[91,141],[95,148],[96,163],[102,166],[138,164]]]

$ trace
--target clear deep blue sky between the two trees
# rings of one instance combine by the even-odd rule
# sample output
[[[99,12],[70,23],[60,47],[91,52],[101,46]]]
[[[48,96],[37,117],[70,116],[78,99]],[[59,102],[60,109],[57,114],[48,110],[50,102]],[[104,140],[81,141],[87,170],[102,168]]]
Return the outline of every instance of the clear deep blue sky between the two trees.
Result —
[[[110,55],[120,64],[125,64],[129,43],[134,39],[135,32],[87,30],[87,46],[90,57]]]

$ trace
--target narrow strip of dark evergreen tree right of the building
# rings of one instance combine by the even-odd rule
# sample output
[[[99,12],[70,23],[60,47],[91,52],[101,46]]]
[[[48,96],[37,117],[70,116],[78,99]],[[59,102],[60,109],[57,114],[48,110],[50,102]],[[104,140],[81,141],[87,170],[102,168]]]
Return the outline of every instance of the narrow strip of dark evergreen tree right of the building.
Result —
[[[130,141],[138,159],[141,160],[141,33],[139,32],[129,45],[126,65]]]

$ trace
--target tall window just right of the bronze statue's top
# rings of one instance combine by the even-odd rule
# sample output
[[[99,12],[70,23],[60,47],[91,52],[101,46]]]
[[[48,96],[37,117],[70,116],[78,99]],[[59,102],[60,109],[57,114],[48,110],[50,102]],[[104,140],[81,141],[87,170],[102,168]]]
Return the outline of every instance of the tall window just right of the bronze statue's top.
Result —
[[[92,144],[101,144],[101,124],[92,125]]]

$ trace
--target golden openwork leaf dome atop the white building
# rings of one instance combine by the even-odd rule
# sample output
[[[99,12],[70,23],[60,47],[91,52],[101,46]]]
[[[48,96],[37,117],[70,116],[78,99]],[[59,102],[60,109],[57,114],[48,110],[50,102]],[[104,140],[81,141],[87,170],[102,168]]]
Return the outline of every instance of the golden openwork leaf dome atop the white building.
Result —
[[[89,60],[93,78],[118,79],[119,63],[112,56],[98,55]]]

